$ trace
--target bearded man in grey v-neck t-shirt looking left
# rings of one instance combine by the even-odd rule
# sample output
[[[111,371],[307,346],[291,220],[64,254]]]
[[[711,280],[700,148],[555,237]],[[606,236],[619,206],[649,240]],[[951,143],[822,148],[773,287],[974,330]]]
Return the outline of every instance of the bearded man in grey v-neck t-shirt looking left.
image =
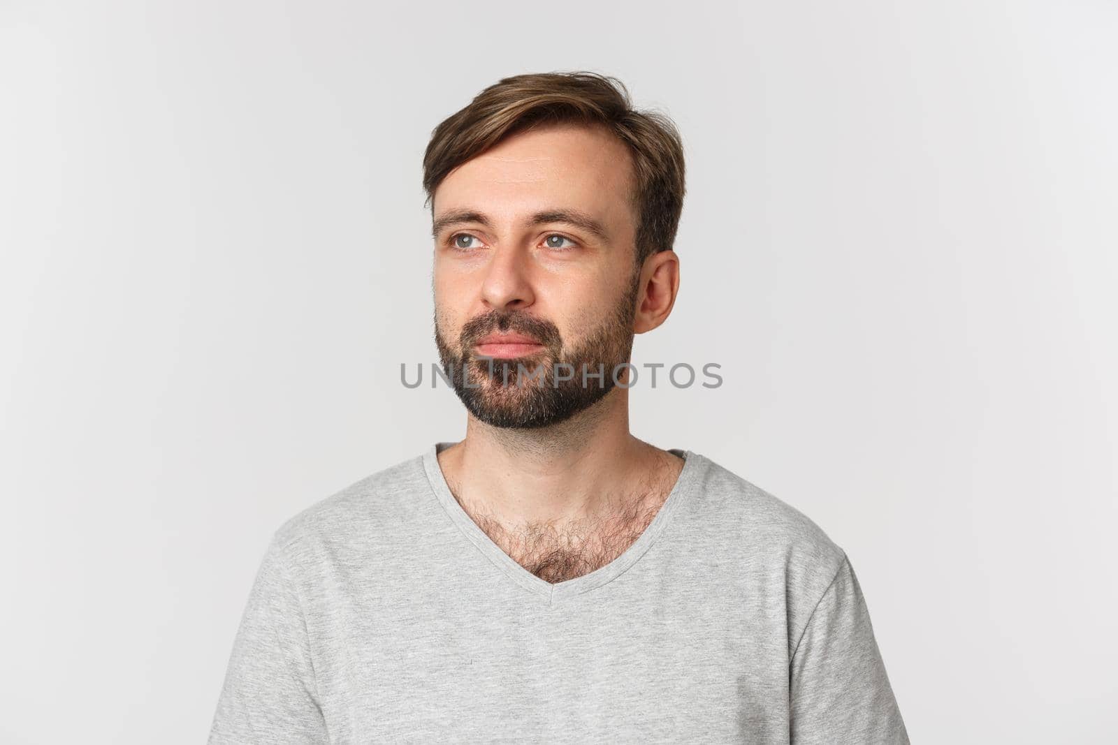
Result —
[[[280,527],[210,742],[907,743],[845,553],[629,433],[633,335],[680,281],[671,122],[522,75],[424,169],[466,437]]]

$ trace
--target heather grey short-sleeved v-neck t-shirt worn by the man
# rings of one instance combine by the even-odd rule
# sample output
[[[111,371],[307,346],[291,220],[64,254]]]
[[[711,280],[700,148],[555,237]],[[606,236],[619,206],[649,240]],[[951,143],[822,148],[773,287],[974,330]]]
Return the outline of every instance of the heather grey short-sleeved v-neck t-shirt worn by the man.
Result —
[[[210,743],[908,743],[846,554],[703,456],[600,569],[536,576],[436,452],[284,523]]]

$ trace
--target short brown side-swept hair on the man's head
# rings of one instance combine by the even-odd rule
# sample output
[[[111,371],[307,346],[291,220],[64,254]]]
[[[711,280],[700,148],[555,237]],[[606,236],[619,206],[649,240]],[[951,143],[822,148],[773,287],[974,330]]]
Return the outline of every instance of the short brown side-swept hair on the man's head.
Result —
[[[683,211],[683,143],[675,125],[653,111],[635,111],[625,85],[597,73],[537,73],[502,78],[444,120],[423,159],[430,203],[447,174],[503,139],[536,124],[604,125],[628,145],[636,183],[636,269],[670,250]]]

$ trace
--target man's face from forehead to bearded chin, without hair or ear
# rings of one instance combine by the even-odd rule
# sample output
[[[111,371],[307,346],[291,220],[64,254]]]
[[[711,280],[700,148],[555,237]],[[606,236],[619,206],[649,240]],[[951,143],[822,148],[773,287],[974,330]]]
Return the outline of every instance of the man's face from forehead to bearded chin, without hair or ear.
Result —
[[[637,296],[631,169],[605,130],[549,125],[510,136],[438,185],[435,341],[481,421],[547,427],[614,386]]]

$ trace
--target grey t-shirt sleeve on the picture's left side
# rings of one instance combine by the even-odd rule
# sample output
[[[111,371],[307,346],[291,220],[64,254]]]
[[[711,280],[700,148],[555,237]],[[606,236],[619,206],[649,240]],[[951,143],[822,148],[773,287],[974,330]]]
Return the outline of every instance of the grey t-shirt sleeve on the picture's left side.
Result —
[[[208,742],[329,742],[302,605],[275,535],[234,640]]]

